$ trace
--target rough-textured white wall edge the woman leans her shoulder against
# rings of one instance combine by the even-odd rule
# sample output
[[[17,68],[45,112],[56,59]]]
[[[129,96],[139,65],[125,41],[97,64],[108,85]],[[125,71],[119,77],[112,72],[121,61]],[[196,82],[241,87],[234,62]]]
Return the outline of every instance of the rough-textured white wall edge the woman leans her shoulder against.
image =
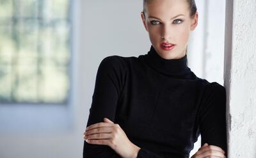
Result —
[[[228,0],[225,43],[228,157],[256,157],[256,3]]]

